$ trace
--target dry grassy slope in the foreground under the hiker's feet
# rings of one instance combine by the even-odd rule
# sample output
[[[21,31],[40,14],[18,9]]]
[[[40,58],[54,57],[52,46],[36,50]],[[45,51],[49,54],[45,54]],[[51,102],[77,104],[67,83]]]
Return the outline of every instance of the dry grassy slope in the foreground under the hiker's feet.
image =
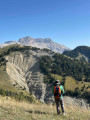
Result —
[[[90,110],[65,105],[66,116],[55,105],[29,104],[0,96],[0,120],[90,120]]]

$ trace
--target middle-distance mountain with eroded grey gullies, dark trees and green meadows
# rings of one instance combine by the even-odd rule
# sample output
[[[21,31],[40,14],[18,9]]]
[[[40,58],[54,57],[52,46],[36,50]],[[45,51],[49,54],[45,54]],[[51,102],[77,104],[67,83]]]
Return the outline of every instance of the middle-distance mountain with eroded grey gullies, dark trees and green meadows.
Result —
[[[48,49],[22,45],[0,48],[0,94],[15,98],[18,98],[16,93],[22,99],[27,92],[42,102],[53,102],[52,85],[59,79],[66,95],[84,97],[90,102],[89,71],[89,63]]]

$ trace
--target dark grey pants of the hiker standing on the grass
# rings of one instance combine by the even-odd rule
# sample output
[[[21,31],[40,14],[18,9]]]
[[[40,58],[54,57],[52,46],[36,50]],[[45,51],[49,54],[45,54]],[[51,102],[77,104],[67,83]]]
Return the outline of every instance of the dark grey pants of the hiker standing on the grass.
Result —
[[[57,114],[60,114],[60,107],[61,106],[61,110],[64,113],[64,102],[63,102],[63,98],[56,98],[55,99],[56,102],[56,109],[57,109]]]

